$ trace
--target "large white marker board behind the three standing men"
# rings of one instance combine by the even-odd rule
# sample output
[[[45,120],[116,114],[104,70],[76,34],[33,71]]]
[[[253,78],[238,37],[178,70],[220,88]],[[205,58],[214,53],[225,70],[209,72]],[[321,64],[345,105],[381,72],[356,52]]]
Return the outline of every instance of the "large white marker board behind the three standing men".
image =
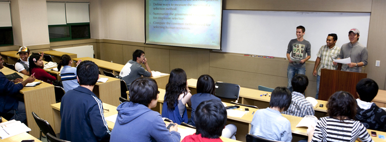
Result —
[[[311,44],[311,61],[316,60],[319,48],[326,45],[330,33],[336,33],[336,46],[350,42],[351,28],[360,31],[359,42],[367,47],[370,13],[295,12],[224,10],[222,21],[222,51],[286,58],[296,27],[306,28],[304,39]]]

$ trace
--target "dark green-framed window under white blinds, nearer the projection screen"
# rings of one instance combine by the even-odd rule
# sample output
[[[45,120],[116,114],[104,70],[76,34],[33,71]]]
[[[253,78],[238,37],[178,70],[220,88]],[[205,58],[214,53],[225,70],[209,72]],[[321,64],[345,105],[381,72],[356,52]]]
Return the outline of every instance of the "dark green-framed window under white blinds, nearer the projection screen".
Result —
[[[90,38],[90,23],[49,25],[50,42]]]

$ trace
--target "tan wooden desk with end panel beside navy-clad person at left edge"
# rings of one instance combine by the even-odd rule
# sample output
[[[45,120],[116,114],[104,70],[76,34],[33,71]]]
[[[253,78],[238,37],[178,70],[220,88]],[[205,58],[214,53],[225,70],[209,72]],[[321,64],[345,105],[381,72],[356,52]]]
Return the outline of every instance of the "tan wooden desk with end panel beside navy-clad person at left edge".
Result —
[[[5,75],[16,72],[6,67],[1,69],[1,71]],[[22,76],[24,80],[28,78],[27,75],[20,72],[17,73]],[[20,90],[20,93],[24,95],[27,123],[28,127],[31,128],[31,132],[29,132],[29,134],[34,137],[39,137],[40,129],[32,116],[32,112],[35,112],[40,118],[46,119],[50,123],[53,122],[52,111],[50,109],[50,105],[55,103],[53,85],[42,82],[42,84],[36,87],[24,87]],[[54,125],[52,125],[52,127],[54,127]]]

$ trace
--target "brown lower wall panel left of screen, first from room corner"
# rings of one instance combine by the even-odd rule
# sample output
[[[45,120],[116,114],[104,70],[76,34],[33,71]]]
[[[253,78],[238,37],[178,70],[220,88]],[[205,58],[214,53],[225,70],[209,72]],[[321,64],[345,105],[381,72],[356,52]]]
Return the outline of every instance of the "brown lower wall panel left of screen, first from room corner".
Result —
[[[101,60],[124,64],[122,45],[103,43],[102,46],[103,48],[101,48]]]

